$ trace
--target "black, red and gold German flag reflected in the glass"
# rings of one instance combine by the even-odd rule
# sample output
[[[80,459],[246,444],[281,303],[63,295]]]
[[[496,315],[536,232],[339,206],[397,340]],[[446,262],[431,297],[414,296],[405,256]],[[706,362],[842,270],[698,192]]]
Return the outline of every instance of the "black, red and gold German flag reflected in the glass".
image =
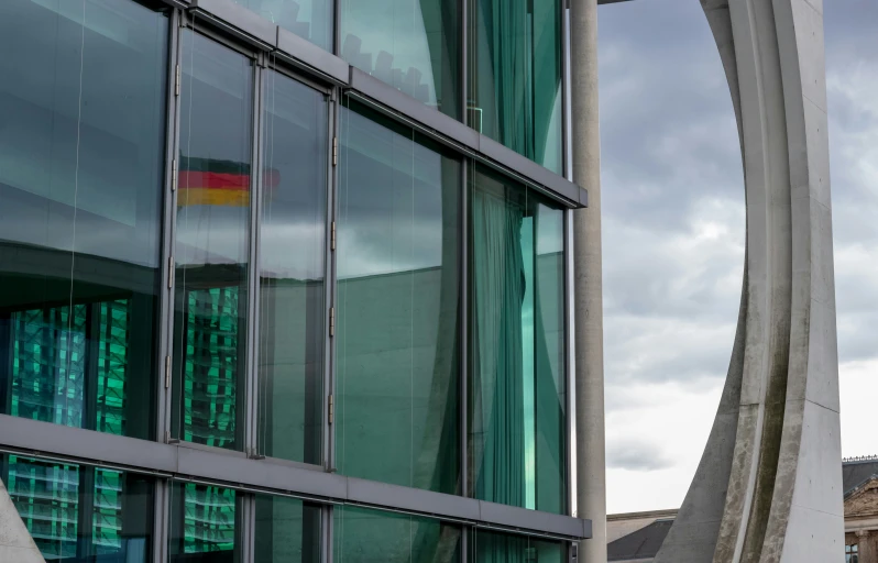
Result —
[[[215,158],[182,158],[177,207],[250,206],[250,165]],[[263,170],[265,189],[277,187],[281,175]]]

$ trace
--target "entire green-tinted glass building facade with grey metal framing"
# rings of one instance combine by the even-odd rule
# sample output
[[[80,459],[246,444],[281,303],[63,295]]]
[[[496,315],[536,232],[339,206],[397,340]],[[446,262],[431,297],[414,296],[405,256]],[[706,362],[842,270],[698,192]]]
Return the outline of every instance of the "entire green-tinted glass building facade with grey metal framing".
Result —
[[[567,561],[566,18],[0,2],[0,478],[47,561]]]

